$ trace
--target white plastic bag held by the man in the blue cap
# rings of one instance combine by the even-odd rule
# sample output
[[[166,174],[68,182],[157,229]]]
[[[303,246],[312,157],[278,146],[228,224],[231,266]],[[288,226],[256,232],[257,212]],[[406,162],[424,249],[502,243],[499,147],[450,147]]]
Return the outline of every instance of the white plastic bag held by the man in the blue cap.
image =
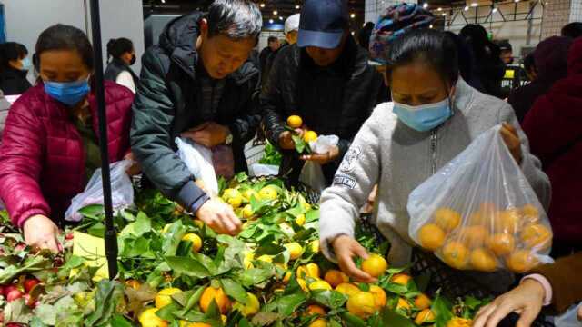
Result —
[[[314,154],[326,154],[334,146],[337,146],[338,142],[339,137],[336,135],[322,135],[317,137],[316,141],[309,143],[309,147]],[[309,161],[303,165],[303,169],[299,175],[299,181],[306,183],[306,185],[319,193],[323,192],[328,186],[324,171],[321,169],[321,164]]]

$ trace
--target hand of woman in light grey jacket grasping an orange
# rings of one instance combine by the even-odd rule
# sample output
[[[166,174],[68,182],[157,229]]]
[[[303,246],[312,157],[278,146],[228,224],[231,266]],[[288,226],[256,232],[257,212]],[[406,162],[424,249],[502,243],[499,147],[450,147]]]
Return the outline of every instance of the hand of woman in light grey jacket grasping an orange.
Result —
[[[359,256],[367,259],[366,249],[357,243],[355,239],[347,235],[339,235],[332,242],[334,252],[336,253],[337,263],[342,272],[352,277],[358,282],[377,282],[376,278],[370,276],[367,272],[359,270],[354,263],[354,257]]]

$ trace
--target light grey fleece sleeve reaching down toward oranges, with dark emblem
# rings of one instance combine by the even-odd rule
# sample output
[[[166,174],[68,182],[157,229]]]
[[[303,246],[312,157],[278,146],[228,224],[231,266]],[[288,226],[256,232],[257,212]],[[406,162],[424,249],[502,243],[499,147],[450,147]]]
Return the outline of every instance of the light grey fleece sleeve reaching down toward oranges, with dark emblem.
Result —
[[[334,183],[322,194],[320,243],[323,253],[332,261],[336,258],[329,242],[340,234],[354,235],[360,208],[380,176],[382,126],[377,119],[378,114],[373,114],[356,134],[337,170]]]

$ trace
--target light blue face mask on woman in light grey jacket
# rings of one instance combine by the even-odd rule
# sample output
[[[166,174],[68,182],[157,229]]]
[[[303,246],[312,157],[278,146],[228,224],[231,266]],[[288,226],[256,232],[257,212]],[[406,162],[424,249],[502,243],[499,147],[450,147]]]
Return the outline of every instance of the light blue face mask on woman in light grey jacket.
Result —
[[[453,115],[449,99],[435,104],[407,105],[394,103],[394,114],[408,127],[426,132],[443,124]]]

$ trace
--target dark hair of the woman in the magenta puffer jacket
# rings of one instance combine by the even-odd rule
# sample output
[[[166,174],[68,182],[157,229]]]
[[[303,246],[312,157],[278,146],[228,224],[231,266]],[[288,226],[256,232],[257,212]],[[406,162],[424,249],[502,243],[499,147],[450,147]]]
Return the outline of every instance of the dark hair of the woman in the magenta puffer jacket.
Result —
[[[83,63],[89,70],[92,71],[94,68],[93,46],[87,35],[74,26],[53,25],[38,36],[34,63],[36,71],[40,71],[41,54],[53,50],[74,50],[81,56]]]

